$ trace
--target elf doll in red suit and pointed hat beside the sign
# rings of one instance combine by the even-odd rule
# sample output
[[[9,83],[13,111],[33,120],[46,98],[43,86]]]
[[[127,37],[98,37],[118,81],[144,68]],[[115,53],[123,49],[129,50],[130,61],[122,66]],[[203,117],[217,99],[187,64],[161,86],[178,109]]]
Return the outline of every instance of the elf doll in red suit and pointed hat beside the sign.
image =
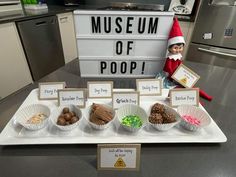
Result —
[[[171,76],[178,68],[178,66],[182,63],[182,55],[185,45],[185,40],[179,26],[179,22],[177,18],[174,18],[172,28],[169,33],[168,38],[168,54],[165,61],[165,66],[163,68],[162,73],[157,75],[158,78],[163,79],[163,86],[164,88],[175,88],[181,87],[180,84],[176,83]],[[209,96],[207,93],[199,89],[199,94],[201,97],[211,101],[212,97]]]

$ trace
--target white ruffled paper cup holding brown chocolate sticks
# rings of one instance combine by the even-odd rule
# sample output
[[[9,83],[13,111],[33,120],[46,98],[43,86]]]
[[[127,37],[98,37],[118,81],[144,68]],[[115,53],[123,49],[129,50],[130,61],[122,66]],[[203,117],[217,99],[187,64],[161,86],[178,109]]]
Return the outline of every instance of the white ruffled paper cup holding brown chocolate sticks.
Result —
[[[85,116],[85,119],[87,120],[89,126],[92,127],[93,129],[96,129],[96,130],[105,130],[105,129],[107,129],[111,125],[111,123],[115,120],[115,117],[116,117],[116,112],[111,106],[108,106],[108,105],[105,105],[105,104],[101,104],[101,105],[112,111],[112,120],[107,122],[104,125],[97,125],[97,124],[90,121],[90,114],[91,114],[92,106],[87,107],[84,111],[84,116]]]

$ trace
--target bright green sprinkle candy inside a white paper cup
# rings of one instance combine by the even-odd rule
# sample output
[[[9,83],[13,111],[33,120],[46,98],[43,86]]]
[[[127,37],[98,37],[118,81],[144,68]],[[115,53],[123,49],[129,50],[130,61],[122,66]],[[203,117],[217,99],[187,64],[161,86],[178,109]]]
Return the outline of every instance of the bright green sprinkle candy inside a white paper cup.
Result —
[[[142,119],[137,115],[128,115],[122,118],[121,123],[128,127],[140,128],[143,125]]]

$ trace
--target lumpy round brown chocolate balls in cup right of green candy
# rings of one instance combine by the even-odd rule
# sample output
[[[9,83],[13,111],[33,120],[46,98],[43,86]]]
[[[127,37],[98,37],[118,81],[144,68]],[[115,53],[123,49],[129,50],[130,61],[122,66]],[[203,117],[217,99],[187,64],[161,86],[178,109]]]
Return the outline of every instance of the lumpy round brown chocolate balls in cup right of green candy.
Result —
[[[175,116],[167,113],[164,105],[156,103],[152,106],[149,122],[153,124],[166,124],[175,122]]]

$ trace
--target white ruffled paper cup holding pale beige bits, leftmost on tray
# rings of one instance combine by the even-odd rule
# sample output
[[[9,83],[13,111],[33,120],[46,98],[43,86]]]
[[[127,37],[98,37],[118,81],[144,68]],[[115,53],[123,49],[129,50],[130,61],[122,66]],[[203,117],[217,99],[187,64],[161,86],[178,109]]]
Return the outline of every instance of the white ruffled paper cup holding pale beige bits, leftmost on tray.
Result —
[[[32,118],[36,114],[44,114],[45,119],[37,124],[29,123],[28,122],[29,119]],[[51,111],[49,107],[47,107],[46,105],[32,104],[19,110],[16,113],[15,117],[16,117],[16,121],[20,125],[22,125],[24,128],[28,130],[40,130],[47,125],[50,114],[51,114]]]

